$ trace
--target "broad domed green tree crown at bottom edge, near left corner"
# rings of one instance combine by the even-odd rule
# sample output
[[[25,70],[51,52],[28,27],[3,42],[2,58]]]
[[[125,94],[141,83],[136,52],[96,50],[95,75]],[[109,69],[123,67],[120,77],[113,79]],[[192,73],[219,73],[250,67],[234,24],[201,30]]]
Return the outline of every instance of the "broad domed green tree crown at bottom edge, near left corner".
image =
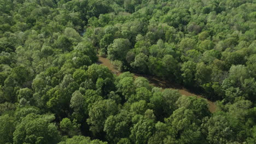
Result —
[[[22,119],[13,133],[13,142],[19,143],[58,143],[60,134],[54,123],[53,115],[31,113]]]

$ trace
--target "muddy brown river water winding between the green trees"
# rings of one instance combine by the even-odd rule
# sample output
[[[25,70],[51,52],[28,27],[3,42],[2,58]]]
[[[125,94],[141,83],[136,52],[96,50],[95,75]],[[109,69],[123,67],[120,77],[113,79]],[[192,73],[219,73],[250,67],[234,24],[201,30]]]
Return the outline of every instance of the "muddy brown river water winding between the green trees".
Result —
[[[118,70],[116,70],[114,68],[114,66],[110,63],[109,59],[107,59],[107,58],[98,56],[98,63],[108,67],[109,70],[111,70],[113,73],[115,73],[117,75],[121,74],[121,73],[118,72]],[[197,98],[202,98],[202,95],[195,94],[195,93],[189,91],[188,89],[182,87],[181,85],[178,85],[177,83],[173,83],[173,82],[167,81],[167,80],[162,80],[162,79],[160,79],[159,77],[156,77],[156,76],[141,75],[141,74],[134,74],[134,75],[135,75],[135,79],[137,77],[140,77],[140,76],[145,77],[146,79],[148,79],[149,83],[151,85],[155,86],[155,87],[178,89],[179,93],[181,93],[182,95],[196,96]],[[212,113],[215,112],[216,111],[216,104],[213,103],[210,100],[207,100],[207,101],[208,101],[208,104],[209,104],[209,110]]]

